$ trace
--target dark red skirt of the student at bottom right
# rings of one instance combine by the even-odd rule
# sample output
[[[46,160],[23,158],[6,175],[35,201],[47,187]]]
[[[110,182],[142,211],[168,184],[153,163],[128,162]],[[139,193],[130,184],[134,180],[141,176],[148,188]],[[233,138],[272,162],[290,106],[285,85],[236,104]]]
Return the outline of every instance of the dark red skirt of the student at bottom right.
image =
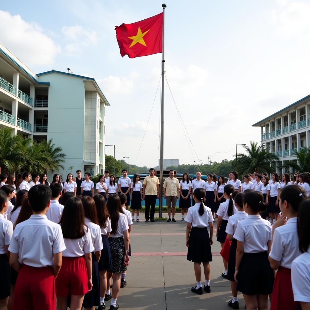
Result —
[[[294,301],[291,270],[279,267],[274,279],[270,310],[296,310],[298,302]]]

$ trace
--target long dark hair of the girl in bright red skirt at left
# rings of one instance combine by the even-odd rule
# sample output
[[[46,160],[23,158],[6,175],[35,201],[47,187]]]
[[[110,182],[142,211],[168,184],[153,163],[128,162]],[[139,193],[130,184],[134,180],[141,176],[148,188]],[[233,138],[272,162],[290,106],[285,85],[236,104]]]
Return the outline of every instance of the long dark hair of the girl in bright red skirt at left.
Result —
[[[66,201],[59,224],[64,238],[79,239],[85,235],[86,226],[81,199],[71,197]]]

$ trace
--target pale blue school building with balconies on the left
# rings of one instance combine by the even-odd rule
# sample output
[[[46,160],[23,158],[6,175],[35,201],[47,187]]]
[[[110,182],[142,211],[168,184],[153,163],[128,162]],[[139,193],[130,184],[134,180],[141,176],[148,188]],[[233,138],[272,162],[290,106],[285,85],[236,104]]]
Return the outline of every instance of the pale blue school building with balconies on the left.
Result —
[[[74,176],[77,169],[103,172],[109,105],[94,78],[70,70],[35,74],[0,43],[0,126],[36,141],[53,139],[66,154],[63,179],[70,166]]]

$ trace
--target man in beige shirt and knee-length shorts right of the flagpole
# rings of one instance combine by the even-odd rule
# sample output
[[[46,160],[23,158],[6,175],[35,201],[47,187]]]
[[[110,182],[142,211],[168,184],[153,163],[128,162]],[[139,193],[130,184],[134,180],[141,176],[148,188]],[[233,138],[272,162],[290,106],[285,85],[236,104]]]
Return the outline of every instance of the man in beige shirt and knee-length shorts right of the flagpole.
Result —
[[[172,169],[169,171],[169,178],[167,178],[164,182],[163,189],[169,217],[167,222],[171,222],[170,218],[171,204],[172,204],[172,222],[176,222],[174,216],[175,216],[176,201],[179,199],[180,195],[180,183],[179,180],[174,177],[174,171]]]

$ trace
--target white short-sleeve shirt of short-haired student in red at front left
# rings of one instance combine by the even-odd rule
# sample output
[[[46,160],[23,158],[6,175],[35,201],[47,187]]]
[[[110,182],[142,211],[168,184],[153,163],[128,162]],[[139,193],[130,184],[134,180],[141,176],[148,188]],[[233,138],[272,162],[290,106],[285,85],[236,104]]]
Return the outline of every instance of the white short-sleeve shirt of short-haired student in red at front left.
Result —
[[[18,254],[21,264],[40,268],[52,266],[53,255],[65,248],[60,225],[33,214],[15,226],[9,251]]]

